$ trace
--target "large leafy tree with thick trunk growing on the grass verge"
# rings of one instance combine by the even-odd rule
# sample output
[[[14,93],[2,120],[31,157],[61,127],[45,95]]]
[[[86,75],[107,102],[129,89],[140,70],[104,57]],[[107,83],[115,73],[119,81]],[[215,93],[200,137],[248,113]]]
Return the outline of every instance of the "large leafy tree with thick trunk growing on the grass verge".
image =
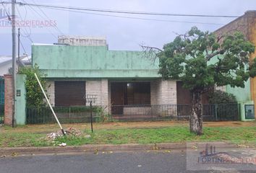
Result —
[[[163,79],[183,81],[184,88],[192,94],[189,122],[192,133],[202,134],[202,93],[215,85],[244,87],[244,81],[256,75],[256,61],[249,65],[249,54],[254,50],[255,46],[241,32],[216,38],[197,27],[177,36],[163,50],[158,49],[158,73]]]

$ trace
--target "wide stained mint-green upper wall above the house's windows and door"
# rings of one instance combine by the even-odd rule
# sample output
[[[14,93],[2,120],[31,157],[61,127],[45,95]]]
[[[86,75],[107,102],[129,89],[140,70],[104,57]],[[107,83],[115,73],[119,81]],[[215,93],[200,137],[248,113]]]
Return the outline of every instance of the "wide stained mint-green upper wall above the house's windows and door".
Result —
[[[106,46],[33,45],[33,64],[48,78],[158,78],[158,59]]]

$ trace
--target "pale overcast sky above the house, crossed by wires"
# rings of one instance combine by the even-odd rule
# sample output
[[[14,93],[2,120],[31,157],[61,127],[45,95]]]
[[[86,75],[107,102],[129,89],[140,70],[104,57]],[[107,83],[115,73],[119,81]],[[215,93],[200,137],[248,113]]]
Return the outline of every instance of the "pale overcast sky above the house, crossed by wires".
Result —
[[[247,10],[255,10],[256,8],[255,0],[17,1],[31,4],[79,6],[92,9],[231,16],[241,16]],[[197,26],[203,31],[208,30],[213,32],[219,27],[222,27],[235,19],[221,17],[163,17],[138,14],[108,14],[99,12],[78,13],[19,5],[17,5],[16,8],[17,21],[26,21],[30,22],[30,24],[33,21],[40,22],[37,25],[29,24],[26,27],[20,27],[20,40],[24,47],[22,48],[21,46],[20,52],[21,54],[27,53],[28,55],[31,54],[32,43],[57,43],[58,35],[104,36],[106,37],[109,50],[142,50],[140,45],[163,48],[163,45],[173,41],[177,34],[184,34],[193,26]],[[10,5],[2,6],[0,4],[0,10],[1,9],[3,12],[11,12]],[[119,17],[106,15],[115,15]],[[168,20],[168,22],[123,17],[161,19]],[[12,28],[7,25],[3,25],[1,20],[7,21],[7,19],[0,19],[0,56],[9,56],[12,55]],[[49,26],[49,22],[54,22],[56,27]]]

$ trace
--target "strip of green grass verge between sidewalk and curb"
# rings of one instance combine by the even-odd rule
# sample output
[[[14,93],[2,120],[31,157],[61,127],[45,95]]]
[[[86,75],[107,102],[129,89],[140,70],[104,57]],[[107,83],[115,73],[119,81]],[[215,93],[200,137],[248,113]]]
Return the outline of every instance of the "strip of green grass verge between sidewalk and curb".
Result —
[[[202,136],[189,133],[186,126],[169,128],[114,129],[95,130],[91,138],[67,136],[57,138],[55,143],[67,143],[68,146],[85,144],[124,144],[124,143],[171,143],[186,141],[229,141],[233,143],[256,143],[255,127],[205,127]],[[87,130],[88,131],[88,130]],[[45,133],[8,133],[0,134],[0,147],[12,146],[53,146],[45,141]]]

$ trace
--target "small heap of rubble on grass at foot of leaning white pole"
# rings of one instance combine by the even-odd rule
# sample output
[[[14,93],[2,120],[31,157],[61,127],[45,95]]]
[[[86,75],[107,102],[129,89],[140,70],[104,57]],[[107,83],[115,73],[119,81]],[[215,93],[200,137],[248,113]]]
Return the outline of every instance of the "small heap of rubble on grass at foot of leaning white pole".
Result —
[[[76,128],[67,128],[67,129],[64,129],[64,133],[67,135],[67,136],[75,136],[75,137],[78,137],[78,136],[81,136],[82,133],[80,130],[76,129]],[[46,135],[46,141],[54,141],[56,138],[59,138],[63,136],[63,133],[61,130],[58,130],[56,132],[53,132],[53,133],[48,133]],[[88,137],[90,138],[90,137]]]

